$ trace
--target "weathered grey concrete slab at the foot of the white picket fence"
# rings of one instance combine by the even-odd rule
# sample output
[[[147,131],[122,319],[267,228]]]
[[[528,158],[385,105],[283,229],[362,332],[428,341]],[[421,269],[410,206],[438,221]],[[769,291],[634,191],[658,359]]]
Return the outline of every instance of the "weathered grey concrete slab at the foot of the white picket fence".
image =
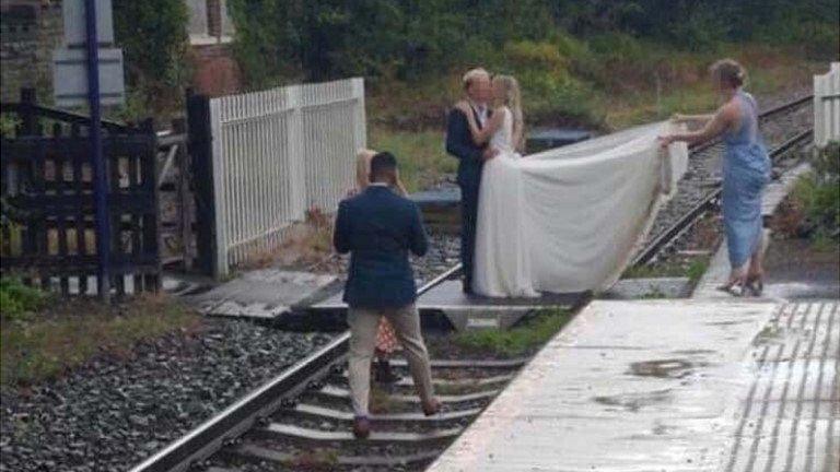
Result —
[[[273,319],[337,282],[332,275],[260,269],[188,300],[206,315]]]

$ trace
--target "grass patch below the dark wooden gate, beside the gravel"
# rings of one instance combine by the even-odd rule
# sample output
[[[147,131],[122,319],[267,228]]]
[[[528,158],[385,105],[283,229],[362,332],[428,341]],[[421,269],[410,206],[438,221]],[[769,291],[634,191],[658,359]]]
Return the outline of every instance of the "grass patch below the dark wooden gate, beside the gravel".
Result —
[[[178,330],[200,317],[164,295],[119,305],[52,299],[26,318],[0,318],[0,385],[26,386],[56,378],[100,354],[127,356],[132,346]]]

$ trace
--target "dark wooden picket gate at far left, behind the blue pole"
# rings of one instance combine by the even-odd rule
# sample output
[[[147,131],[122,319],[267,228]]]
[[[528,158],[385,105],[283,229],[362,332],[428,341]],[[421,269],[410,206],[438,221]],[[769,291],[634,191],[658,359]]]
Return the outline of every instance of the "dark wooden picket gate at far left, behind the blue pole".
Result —
[[[62,294],[96,293],[98,256],[88,117],[35,104],[1,104],[16,119],[0,138],[3,273]],[[161,284],[155,158],[151,121],[139,128],[104,121],[103,151],[112,240],[109,273],[117,295]]]

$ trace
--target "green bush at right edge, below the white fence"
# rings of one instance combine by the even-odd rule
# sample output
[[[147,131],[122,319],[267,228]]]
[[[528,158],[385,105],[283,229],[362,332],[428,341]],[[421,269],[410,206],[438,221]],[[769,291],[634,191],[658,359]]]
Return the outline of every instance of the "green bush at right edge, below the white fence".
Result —
[[[793,190],[792,205],[801,216],[796,232],[818,246],[836,246],[840,238],[840,142],[818,151],[812,166]]]

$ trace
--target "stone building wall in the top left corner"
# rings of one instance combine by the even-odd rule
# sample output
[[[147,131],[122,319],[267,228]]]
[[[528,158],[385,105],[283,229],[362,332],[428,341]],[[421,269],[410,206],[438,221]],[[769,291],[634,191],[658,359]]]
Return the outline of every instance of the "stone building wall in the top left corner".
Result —
[[[61,2],[0,3],[0,97],[16,102],[21,87],[35,87],[38,102],[52,98],[52,50],[63,36]]]

